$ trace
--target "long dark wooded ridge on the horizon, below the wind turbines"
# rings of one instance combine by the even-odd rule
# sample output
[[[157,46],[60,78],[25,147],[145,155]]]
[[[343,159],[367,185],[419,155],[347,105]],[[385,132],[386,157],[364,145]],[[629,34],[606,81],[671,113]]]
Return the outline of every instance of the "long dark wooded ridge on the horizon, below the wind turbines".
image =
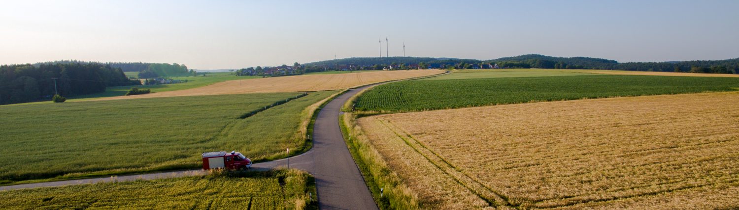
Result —
[[[539,68],[539,69],[605,69],[627,71],[675,71],[692,73],[738,74],[739,58],[729,60],[693,60],[677,62],[634,62],[619,63],[593,57],[551,57],[545,55],[520,55],[493,60],[474,60],[432,57],[352,57],[338,60],[325,60],[306,63],[307,69],[339,70],[382,69],[383,66],[414,66],[420,69],[449,68],[487,69],[498,68]],[[400,68],[403,69],[403,68]],[[310,72],[310,71],[309,71]]]

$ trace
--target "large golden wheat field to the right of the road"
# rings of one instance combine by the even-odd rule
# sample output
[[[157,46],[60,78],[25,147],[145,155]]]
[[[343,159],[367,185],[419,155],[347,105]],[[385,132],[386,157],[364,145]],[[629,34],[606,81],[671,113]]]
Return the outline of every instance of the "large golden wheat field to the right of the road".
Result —
[[[739,93],[358,119],[423,209],[739,208]]]

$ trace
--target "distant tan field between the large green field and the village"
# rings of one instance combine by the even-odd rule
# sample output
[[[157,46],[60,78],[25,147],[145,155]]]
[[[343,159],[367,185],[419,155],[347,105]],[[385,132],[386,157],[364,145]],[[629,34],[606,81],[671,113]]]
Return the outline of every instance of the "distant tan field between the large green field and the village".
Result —
[[[101,100],[294,91],[330,91],[351,88],[359,85],[381,83],[389,80],[402,80],[413,77],[441,74],[443,72],[443,70],[370,71],[352,74],[313,74],[289,77],[268,77],[251,80],[231,80],[200,88],[134,96],[107,97],[101,98]]]

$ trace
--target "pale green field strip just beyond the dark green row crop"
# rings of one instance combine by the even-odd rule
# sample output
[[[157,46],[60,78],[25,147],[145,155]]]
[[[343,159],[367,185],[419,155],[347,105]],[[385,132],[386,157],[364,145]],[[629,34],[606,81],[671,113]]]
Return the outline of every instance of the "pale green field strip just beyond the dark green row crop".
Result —
[[[593,74],[559,69],[459,69],[454,70],[452,74],[429,77],[423,80],[463,80],[501,77],[554,77],[575,75]]]

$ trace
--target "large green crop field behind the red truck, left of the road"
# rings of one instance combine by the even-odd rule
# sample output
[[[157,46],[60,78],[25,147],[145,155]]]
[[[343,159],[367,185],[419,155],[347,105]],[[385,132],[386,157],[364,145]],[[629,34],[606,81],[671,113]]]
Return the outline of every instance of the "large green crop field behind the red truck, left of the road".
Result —
[[[337,91],[165,97],[0,108],[0,183],[200,167],[203,152],[253,161],[301,150],[304,109]]]

